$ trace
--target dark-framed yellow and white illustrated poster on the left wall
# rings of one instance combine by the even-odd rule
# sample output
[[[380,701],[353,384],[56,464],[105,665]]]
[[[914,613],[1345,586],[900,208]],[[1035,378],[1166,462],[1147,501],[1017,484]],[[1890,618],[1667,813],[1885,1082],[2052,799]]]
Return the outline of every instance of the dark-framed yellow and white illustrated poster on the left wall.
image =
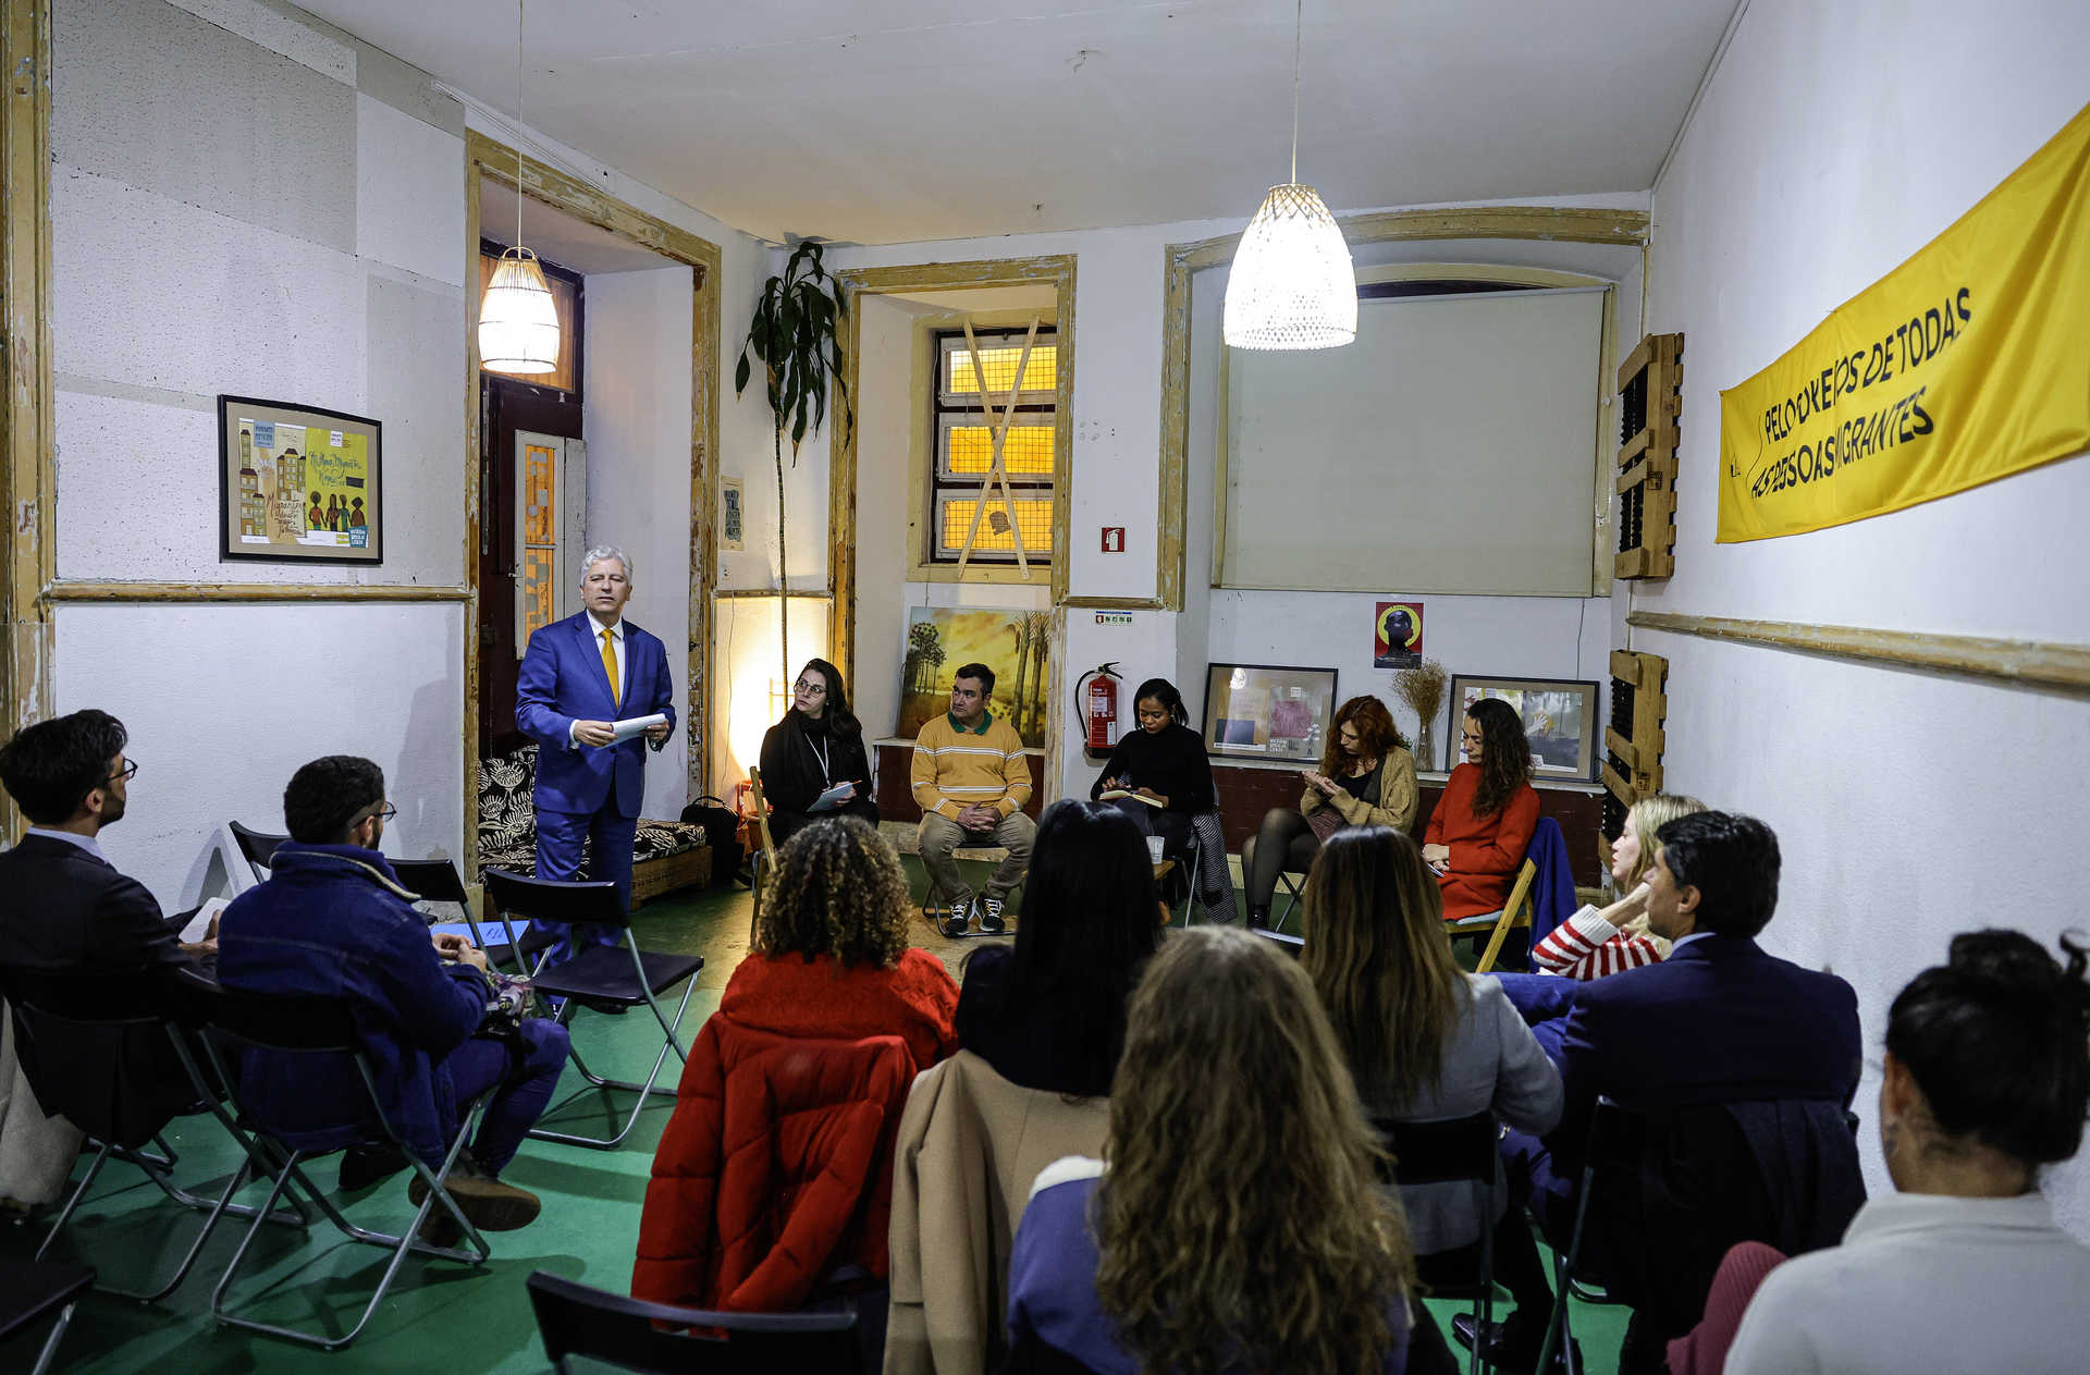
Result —
[[[217,556],[382,564],[382,441],[368,416],[217,397]]]

